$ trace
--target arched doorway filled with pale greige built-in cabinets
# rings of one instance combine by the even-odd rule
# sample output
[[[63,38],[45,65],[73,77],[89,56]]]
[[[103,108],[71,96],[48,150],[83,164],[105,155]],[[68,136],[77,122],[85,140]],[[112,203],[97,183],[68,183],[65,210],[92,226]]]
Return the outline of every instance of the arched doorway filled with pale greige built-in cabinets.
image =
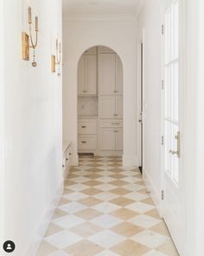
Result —
[[[122,156],[124,75],[118,54],[87,49],[78,63],[78,153]]]

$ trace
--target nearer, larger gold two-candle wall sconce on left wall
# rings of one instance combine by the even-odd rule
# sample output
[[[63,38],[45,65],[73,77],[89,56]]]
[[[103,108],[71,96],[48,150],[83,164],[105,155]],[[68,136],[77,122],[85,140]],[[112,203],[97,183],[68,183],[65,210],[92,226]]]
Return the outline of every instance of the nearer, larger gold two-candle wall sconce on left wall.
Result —
[[[36,67],[35,62],[35,49],[38,43],[38,16],[35,16],[35,41],[32,36],[32,10],[29,7],[29,35],[26,32],[22,32],[22,59],[29,61],[29,49],[33,49],[33,62],[32,66]]]

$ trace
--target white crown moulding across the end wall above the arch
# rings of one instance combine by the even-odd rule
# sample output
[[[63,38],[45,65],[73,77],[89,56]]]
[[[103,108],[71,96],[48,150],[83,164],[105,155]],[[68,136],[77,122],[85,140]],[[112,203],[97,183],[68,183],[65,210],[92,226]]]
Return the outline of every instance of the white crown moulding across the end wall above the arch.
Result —
[[[134,14],[63,14],[63,22],[67,21],[137,21]]]

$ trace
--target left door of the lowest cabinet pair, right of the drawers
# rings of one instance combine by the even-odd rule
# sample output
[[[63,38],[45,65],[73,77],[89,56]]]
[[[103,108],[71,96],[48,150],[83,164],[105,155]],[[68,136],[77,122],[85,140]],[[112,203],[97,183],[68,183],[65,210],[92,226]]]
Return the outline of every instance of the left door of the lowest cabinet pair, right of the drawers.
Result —
[[[100,129],[100,150],[116,149],[116,132],[112,128]]]

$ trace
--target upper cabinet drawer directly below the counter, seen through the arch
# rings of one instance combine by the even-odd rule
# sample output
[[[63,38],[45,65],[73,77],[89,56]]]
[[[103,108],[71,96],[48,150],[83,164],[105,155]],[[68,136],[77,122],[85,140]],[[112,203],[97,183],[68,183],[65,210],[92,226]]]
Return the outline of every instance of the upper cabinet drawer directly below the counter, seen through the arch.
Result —
[[[95,135],[96,134],[96,120],[80,120],[78,121],[79,135]]]

